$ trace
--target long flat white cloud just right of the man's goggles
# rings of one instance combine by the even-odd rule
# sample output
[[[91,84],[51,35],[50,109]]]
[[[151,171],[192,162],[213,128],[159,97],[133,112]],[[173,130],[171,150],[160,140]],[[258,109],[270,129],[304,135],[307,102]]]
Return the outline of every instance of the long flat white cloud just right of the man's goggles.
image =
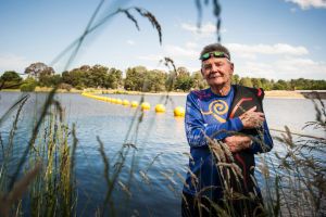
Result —
[[[268,55],[304,55],[309,51],[306,48],[299,46],[293,47],[287,43],[276,43],[276,44],[240,44],[240,43],[228,43],[226,47],[231,53],[237,54],[241,58],[255,59],[256,54],[268,54]]]

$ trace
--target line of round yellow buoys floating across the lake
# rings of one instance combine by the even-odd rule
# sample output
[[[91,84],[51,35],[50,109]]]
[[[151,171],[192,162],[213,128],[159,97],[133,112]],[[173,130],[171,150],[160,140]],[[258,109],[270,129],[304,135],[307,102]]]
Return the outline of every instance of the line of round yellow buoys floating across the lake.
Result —
[[[82,95],[91,98],[95,100],[103,101],[103,102],[110,102],[113,104],[121,104],[124,106],[130,106],[130,107],[138,107],[139,103],[137,101],[131,101],[129,102],[128,100],[122,100],[122,99],[116,99],[116,98],[108,98],[108,97],[102,97],[102,95],[95,95],[88,92],[83,92]],[[142,102],[140,104],[140,108],[142,111],[149,111],[151,108],[150,103],[148,102]],[[165,106],[163,104],[156,104],[155,107],[155,113],[165,113]],[[184,117],[185,116],[185,108],[183,106],[177,106],[173,111],[175,117]]]

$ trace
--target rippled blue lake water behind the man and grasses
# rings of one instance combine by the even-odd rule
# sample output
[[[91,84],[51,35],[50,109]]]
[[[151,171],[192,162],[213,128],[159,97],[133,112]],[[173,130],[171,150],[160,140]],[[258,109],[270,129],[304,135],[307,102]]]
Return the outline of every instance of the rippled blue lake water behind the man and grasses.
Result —
[[[0,92],[0,115],[21,95],[17,92]],[[106,95],[108,97],[108,95]],[[140,100],[140,95],[110,95],[120,99]],[[18,123],[15,151],[20,152],[30,137],[34,116],[41,110],[46,94],[30,93]],[[185,106],[186,97],[170,97],[166,113],[155,114],[153,108],[165,99],[158,95],[145,95],[151,110],[145,112],[142,122],[134,125],[136,108],[111,104],[80,94],[57,94],[65,108],[65,119],[70,126],[76,124],[78,138],[76,152],[76,176],[78,187],[78,216],[93,216],[96,208],[101,206],[105,196],[103,178],[103,161],[99,152],[97,137],[104,144],[104,151],[112,158],[123,142],[135,143],[131,149],[120,180],[127,183],[133,162],[131,197],[117,186],[114,192],[115,207],[118,216],[179,216],[181,179],[188,165],[189,148],[185,138],[184,119],[173,116],[173,108]],[[325,103],[325,102],[324,102]],[[305,99],[265,99],[264,110],[269,128],[283,129],[287,125],[293,131],[313,133],[325,137],[325,132],[302,127],[306,122],[315,119],[314,104]],[[5,135],[10,130],[15,112],[1,125],[1,136],[5,143]],[[138,119],[138,116],[137,116]],[[136,122],[137,123],[137,122]],[[128,130],[130,129],[130,130]],[[129,133],[128,133],[129,132]],[[271,131],[273,136],[277,132]],[[280,151],[275,142],[274,151]],[[133,156],[134,161],[133,161]],[[273,155],[271,154],[273,157]],[[150,182],[147,183],[139,170],[147,170]],[[167,179],[166,176],[171,178]],[[260,175],[258,175],[261,181]]]

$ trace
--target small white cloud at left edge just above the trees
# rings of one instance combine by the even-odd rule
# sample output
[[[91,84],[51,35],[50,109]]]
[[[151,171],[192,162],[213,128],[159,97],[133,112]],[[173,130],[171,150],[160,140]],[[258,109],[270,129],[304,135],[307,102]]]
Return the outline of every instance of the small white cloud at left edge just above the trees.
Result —
[[[26,60],[24,56],[0,54],[0,72],[16,71],[17,73],[23,73],[29,64],[30,61]]]

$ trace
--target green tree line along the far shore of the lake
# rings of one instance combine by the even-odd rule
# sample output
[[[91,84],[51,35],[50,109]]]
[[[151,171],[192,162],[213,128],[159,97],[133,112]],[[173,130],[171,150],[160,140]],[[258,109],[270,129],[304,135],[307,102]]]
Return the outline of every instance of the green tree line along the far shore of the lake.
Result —
[[[125,72],[103,65],[83,65],[72,71],[57,74],[52,67],[43,63],[33,63],[25,68],[23,78],[14,71],[7,71],[0,77],[0,89],[21,89],[34,91],[39,87],[57,87],[66,90],[72,88],[125,89],[145,92],[189,91],[206,88],[200,71],[190,73],[186,67],[172,72],[147,69],[145,66],[129,67]],[[264,90],[326,90],[326,80],[290,79],[274,80],[233,76],[233,84]]]

